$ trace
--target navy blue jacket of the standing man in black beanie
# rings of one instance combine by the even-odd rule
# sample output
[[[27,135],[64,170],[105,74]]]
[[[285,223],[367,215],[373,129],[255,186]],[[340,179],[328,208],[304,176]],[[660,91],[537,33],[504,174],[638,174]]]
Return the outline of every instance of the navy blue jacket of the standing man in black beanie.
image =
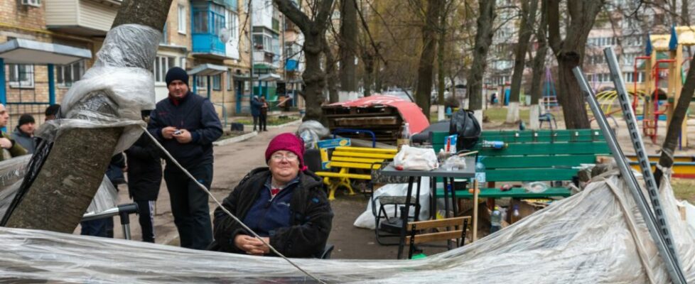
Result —
[[[176,138],[165,139],[162,129],[173,126],[190,131],[190,143],[178,143]],[[212,142],[222,136],[222,124],[210,100],[193,92],[174,104],[171,98],[162,99],[150,114],[147,129],[184,168],[212,163]],[[167,169],[170,163],[167,163]],[[172,164],[173,166],[173,164]]]

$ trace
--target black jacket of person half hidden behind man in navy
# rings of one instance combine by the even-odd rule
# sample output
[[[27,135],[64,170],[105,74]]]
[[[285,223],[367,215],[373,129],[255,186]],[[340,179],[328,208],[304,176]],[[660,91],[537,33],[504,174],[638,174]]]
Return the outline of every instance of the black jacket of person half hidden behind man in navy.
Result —
[[[161,151],[146,133],[126,150],[128,192],[133,200],[157,200],[162,180]]]

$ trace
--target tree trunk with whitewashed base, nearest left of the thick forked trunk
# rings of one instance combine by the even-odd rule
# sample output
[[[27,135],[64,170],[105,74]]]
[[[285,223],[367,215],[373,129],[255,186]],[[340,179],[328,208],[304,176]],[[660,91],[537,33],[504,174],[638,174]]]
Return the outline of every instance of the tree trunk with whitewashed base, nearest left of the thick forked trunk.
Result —
[[[545,57],[548,53],[548,43],[546,41],[546,26],[548,24],[548,14],[546,13],[546,9],[546,1],[542,1],[541,22],[539,23],[538,28],[536,30],[538,50],[536,50],[536,56],[533,59],[532,66],[533,70],[531,79],[531,111],[529,111],[530,129],[539,129],[538,118],[540,116],[541,108],[538,105],[538,102],[542,97],[541,82],[543,80],[543,75],[545,71]]]

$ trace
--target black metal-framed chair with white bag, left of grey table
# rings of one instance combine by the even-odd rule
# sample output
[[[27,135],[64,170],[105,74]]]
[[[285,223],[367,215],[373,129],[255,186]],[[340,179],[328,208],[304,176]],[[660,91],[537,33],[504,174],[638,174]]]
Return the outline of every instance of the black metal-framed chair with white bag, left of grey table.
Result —
[[[390,162],[384,161],[381,168],[385,168]],[[400,241],[400,233],[402,230],[402,214],[399,213],[399,209],[404,209],[402,205],[406,204],[406,197],[404,196],[379,196],[375,197],[374,185],[377,183],[406,183],[408,182],[407,177],[393,177],[381,175],[381,170],[372,170],[372,180],[370,182],[370,188],[372,190],[370,202],[372,202],[372,214],[375,219],[375,236],[377,243],[382,246],[397,246]],[[419,186],[419,185],[414,185]],[[418,187],[419,188],[419,187]],[[419,192],[418,192],[419,193]],[[420,211],[419,195],[416,195],[416,201],[414,204],[415,212]],[[379,208],[377,209],[377,201],[379,202]],[[386,206],[393,205],[394,212],[389,216]],[[382,221],[382,218],[384,219]],[[409,218],[411,219],[411,218]],[[395,238],[395,241],[384,241],[384,238]]]

